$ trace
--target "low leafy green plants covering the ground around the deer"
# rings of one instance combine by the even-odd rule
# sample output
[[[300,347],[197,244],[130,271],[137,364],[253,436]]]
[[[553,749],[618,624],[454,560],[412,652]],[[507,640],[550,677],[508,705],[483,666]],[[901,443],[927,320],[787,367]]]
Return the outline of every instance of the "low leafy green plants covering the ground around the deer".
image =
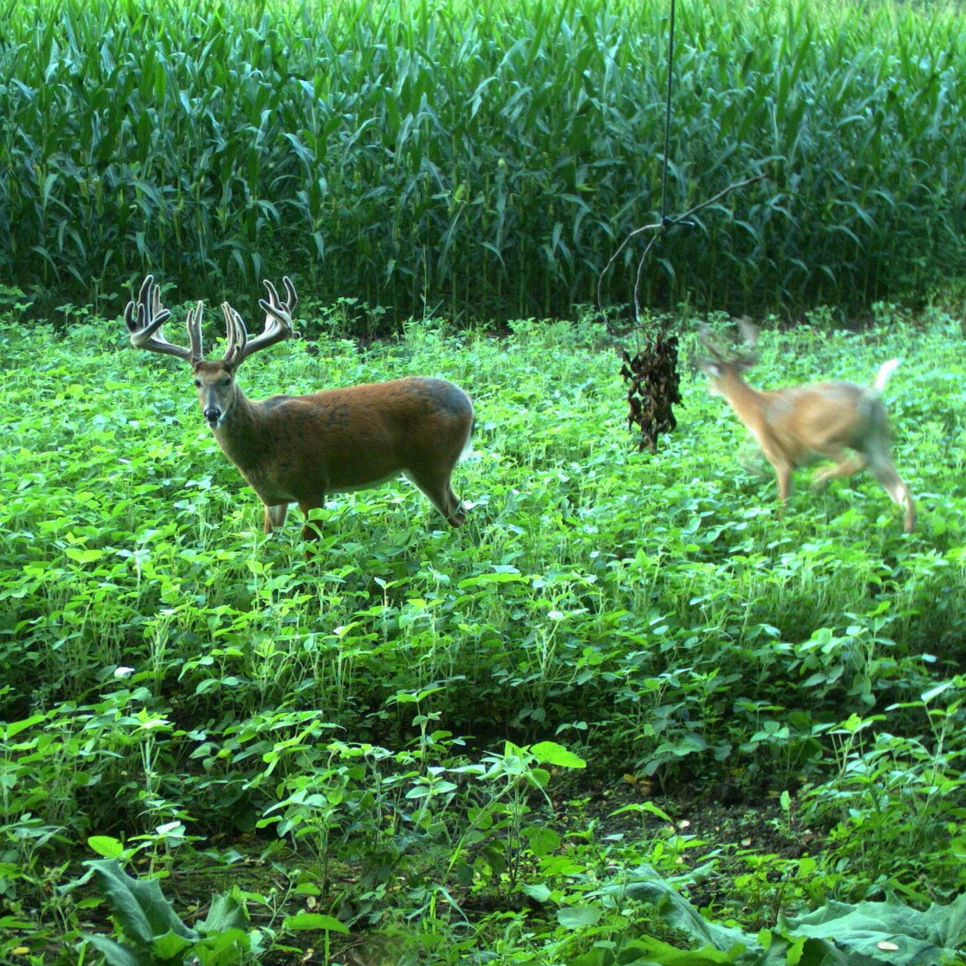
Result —
[[[128,351],[117,319],[20,327],[4,298],[4,961],[956,954],[957,319],[815,313],[765,331],[753,372],[864,382],[902,357],[906,536],[863,477],[800,474],[780,518],[690,369],[676,432],[640,454],[633,333],[411,324],[363,346],[309,303],[309,337],[247,364],[253,397],[436,374],[477,431],[461,531],[386,484],[333,498],[306,560],[296,522],[261,534],[184,366]],[[697,321],[675,323],[685,360]]]

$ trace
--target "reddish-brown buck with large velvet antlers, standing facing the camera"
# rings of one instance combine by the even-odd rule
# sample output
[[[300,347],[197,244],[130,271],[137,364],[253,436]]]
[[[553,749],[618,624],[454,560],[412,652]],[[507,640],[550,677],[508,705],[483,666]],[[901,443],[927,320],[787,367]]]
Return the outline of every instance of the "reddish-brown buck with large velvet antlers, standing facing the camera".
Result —
[[[290,503],[305,515],[302,536],[319,535],[308,520],[327,494],[365,490],[400,473],[436,506],[451,526],[464,513],[449,479],[469,448],[473,408],[469,396],[442,379],[409,377],[388,383],[324,389],[305,396],[272,396],[252,402],[236,382],[249,355],[293,335],[292,312],[298,297],[282,279],[285,301],[270,281],[269,298],[259,299],[265,327],[248,336],[241,316],[228,302],[221,311],[227,327],[225,354],[202,353],[202,302],[187,314],[189,346],[165,339],[161,327],[171,313],[161,305],[154,276],[128,302],[124,319],[131,344],[153,353],[177,355],[194,372],[201,412],[221,451],[239,469],[265,504],[265,532],[282,526]]]

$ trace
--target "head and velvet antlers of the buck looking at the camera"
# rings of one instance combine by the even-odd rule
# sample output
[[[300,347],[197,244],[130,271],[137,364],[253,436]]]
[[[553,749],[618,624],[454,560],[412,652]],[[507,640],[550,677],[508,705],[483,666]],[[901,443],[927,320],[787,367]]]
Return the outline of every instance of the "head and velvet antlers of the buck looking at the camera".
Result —
[[[231,414],[238,401],[239,389],[235,376],[241,363],[252,353],[292,335],[292,311],[298,301],[295,287],[286,276],[282,279],[285,286],[283,302],[270,281],[265,287],[269,298],[260,298],[259,305],[265,310],[265,328],[255,338],[248,337],[248,330],[238,312],[222,302],[221,311],[225,317],[228,340],[225,355],[217,360],[206,359],[202,352],[201,316],[203,302],[198,302],[188,310],[185,327],[189,347],[177,346],[164,338],[161,326],[171,317],[171,313],[161,306],[160,296],[152,275],[145,278],[136,302],[128,302],[125,309],[125,322],[130,333],[130,341],[138,349],[150,352],[177,355],[185,359],[194,372],[194,386],[198,390],[201,412],[212,429],[221,426]]]

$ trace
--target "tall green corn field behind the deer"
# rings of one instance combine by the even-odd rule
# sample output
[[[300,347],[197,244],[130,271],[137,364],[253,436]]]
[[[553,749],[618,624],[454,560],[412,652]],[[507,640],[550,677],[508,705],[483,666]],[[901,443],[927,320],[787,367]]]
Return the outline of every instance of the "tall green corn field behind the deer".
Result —
[[[662,206],[669,0],[8,0],[0,285],[178,298],[294,273],[391,317],[569,315]],[[654,306],[797,311],[961,273],[966,26],[679,0]],[[640,249],[608,272],[631,297]]]

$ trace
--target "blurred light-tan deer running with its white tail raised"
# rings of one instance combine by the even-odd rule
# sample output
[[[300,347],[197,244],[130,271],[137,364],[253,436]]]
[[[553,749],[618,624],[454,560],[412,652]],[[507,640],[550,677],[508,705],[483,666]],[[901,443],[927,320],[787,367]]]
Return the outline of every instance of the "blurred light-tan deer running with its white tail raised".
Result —
[[[815,474],[816,486],[867,468],[904,509],[904,529],[911,533],[916,508],[893,466],[889,417],[881,396],[899,360],[883,362],[871,385],[812,383],[763,392],[744,379],[745,370],[757,359],[753,349],[758,330],[747,322],[740,327],[751,352],[730,357],[714,344],[708,327],[701,327],[699,338],[710,358],[699,364],[710,377],[711,394],[725,397],[775,468],[782,504],[791,488],[792,470],[830,459],[835,465]]]

